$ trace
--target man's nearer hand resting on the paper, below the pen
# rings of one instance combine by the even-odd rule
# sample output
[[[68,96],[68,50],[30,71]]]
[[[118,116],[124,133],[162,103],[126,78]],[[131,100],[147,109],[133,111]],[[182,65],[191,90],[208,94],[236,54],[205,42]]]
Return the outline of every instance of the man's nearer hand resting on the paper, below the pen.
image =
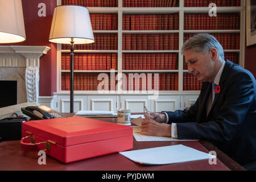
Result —
[[[141,134],[158,137],[171,137],[171,125],[152,121],[148,114],[144,114],[145,119],[141,123]]]

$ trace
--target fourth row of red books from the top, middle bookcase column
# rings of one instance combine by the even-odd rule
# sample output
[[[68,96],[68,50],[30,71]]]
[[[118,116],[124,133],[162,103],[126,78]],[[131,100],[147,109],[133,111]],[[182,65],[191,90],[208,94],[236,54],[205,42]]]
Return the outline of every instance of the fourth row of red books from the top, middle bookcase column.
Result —
[[[176,53],[123,53],[123,70],[174,70]]]

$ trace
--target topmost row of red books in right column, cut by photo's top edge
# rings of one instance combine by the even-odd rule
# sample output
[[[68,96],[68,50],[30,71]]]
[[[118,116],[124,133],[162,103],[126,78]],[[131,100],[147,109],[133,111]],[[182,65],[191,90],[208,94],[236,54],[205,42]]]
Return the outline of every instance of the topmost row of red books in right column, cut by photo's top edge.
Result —
[[[241,0],[184,0],[184,7],[208,7],[210,3],[216,6],[240,6]]]

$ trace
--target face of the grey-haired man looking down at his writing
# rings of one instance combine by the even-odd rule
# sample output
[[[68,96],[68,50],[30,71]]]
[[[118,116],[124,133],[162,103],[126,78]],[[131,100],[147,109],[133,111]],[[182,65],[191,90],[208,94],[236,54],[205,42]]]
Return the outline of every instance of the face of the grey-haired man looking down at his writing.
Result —
[[[185,63],[188,65],[188,72],[196,76],[199,81],[213,82],[213,62],[210,52],[204,55],[191,50],[185,51]]]

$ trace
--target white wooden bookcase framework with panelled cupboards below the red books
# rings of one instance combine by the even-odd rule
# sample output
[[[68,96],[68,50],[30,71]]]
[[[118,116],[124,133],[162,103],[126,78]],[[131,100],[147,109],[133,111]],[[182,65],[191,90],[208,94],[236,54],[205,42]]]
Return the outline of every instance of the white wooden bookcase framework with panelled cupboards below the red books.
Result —
[[[152,111],[161,111],[161,108],[183,109],[188,107],[199,96],[200,91],[183,91],[183,74],[187,70],[183,69],[183,55],[181,55],[181,47],[183,46],[184,34],[196,34],[201,32],[208,33],[240,33],[240,49],[224,50],[224,52],[239,53],[239,64],[244,67],[245,57],[245,1],[241,1],[240,7],[217,7],[218,13],[240,13],[240,30],[184,30],[184,14],[208,14],[208,7],[184,7],[184,1],[179,0],[179,7],[122,7],[122,0],[118,0],[118,7],[88,7],[90,13],[118,14],[118,30],[113,31],[93,31],[95,34],[118,34],[118,50],[75,50],[75,53],[117,53],[117,71],[115,73],[178,73],[179,74],[179,90],[177,91],[159,91],[159,97],[156,100],[149,100],[148,96],[152,93],[138,93],[135,91],[121,92],[109,91],[99,93],[97,91],[74,91],[75,93],[75,111],[76,110],[92,110],[97,109],[98,103],[102,102],[107,105],[105,110],[131,109],[133,112],[143,111],[142,107],[147,106]],[[61,1],[57,0],[57,5],[61,5]],[[122,17],[125,14],[174,14],[179,13],[179,30],[165,31],[127,31],[122,30]],[[126,51],[122,50],[123,34],[174,34],[179,33],[179,50],[175,51]],[[69,91],[61,90],[61,73],[69,71],[61,70],[61,53],[69,53],[69,50],[61,50],[61,45],[57,44],[57,92],[53,93],[53,103],[56,103],[54,109],[61,112],[68,112]],[[178,67],[176,70],[122,70],[122,54],[123,53],[177,53]],[[75,71],[79,73],[109,73],[110,71]],[[120,78],[120,75],[118,75]],[[63,100],[63,98],[65,98]],[[93,100],[97,98],[97,100]],[[111,99],[110,99],[111,98]],[[126,99],[127,98],[127,99]],[[192,99],[191,99],[192,98]],[[163,102],[167,100],[168,102]],[[97,101],[97,102],[96,102]],[[113,101],[113,103],[112,103]],[[97,104],[95,104],[96,102]],[[114,103],[115,102],[115,103]],[[107,103],[107,104],[106,104]],[[108,104],[109,103],[109,104]],[[65,106],[68,105],[68,106]],[[53,104],[53,106],[55,106]],[[102,109],[100,107],[99,109]]]

